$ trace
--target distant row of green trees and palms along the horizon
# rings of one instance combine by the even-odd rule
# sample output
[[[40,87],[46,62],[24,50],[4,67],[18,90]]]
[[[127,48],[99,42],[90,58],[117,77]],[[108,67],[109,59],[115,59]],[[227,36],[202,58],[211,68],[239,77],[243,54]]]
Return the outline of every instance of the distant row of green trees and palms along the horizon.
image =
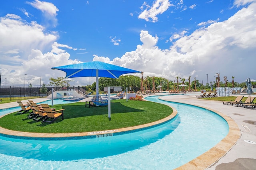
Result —
[[[220,81],[220,73],[217,73],[216,82],[210,82],[212,84],[213,88],[216,87],[244,87],[245,83],[237,83],[234,82],[234,77],[232,77],[232,83],[228,82],[227,77],[224,76],[224,83]],[[179,90],[178,85],[185,84],[188,87],[185,87],[188,91],[197,91],[200,89],[207,89],[210,87],[210,84],[203,85],[199,82],[199,80],[194,77],[194,80],[191,80],[191,76],[189,76],[187,79],[181,78],[179,76],[176,76],[176,80],[168,80],[166,78],[162,77],[155,77],[155,76],[146,76],[143,77],[143,73],[141,77],[135,76],[135,75],[126,75],[126,76],[120,76],[118,79],[113,78],[99,78],[99,89],[104,90],[104,87],[106,86],[121,86],[125,90],[126,87],[128,87],[128,90],[132,91],[145,91],[145,90],[158,90],[157,86],[162,86],[163,91],[169,91],[169,90]],[[90,88],[91,90],[94,90],[96,88],[96,82],[94,82],[91,86],[86,86],[87,88]]]

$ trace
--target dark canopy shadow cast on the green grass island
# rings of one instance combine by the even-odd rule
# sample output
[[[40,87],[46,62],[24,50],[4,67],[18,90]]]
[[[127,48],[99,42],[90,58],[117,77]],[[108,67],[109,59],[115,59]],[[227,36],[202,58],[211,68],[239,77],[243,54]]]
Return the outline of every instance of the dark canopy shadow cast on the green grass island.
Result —
[[[75,117],[85,117],[92,115],[105,115],[108,114],[108,106],[99,107],[85,107],[84,105],[64,105],[62,106],[64,110],[64,119],[72,119]],[[123,104],[116,102],[111,103],[111,114],[114,113],[129,113],[129,112],[140,112],[144,111],[141,109],[135,109],[132,107],[124,106]]]

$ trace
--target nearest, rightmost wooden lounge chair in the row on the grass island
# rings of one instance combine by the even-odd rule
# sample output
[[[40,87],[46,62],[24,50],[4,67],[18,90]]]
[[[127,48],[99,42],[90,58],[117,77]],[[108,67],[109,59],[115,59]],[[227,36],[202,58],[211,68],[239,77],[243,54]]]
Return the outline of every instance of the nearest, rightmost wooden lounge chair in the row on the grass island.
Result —
[[[48,104],[41,104],[41,106],[42,106],[42,108],[44,109],[44,112],[47,115],[42,122],[49,122],[49,124],[51,124],[52,122],[54,122],[59,117],[61,117],[62,120],[64,120],[63,111],[65,109],[59,109],[59,110],[52,111],[52,109],[50,108],[50,106],[48,106]],[[48,119],[51,119],[51,120],[49,121]]]

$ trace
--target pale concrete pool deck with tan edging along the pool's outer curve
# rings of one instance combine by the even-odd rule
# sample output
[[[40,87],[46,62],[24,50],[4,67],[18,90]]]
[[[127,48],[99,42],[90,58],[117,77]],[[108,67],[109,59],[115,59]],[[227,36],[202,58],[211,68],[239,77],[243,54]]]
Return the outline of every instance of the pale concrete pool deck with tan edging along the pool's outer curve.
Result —
[[[253,167],[256,167],[256,144],[250,143],[250,141],[256,142],[256,109],[227,106],[223,105],[221,101],[201,100],[196,98],[198,94],[168,95],[160,96],[160,98],[162,100],[192,104],[213,110],[224,116],[225,119],[228,119],[229,125],[232,126],[232,134],[230,134],[231,136],[228,139],[224,138],[224,141],[222,140],[213,149],[177,169],[234,170],[245,169],[245,167],[253,169]],[[164,93],[157,93],[155,95],[164,95]],[[248,96],[247,94],[240,95]],[[144,95],[144,97],[146,96],[151,95]],[[42,102],[42,98],[33,99],[33,101],[36,103]],[[16,106],[18,106],[16,102],[0,104],[0,109]],[[42,137],[41,135],[39,136]],[[230,147],[232,148],[230,149]],[[212,162],[213,160],[214,162]]]

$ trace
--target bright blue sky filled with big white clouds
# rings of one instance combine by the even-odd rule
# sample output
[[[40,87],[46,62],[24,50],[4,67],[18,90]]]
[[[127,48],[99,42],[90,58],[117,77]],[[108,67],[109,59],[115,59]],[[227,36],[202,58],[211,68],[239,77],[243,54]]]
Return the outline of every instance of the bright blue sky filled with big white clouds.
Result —
[[[0,2],[7,86],[48,84],[52,67],[103,61],[203,84],[255,76],[256,0],[8,0]],[[140,76],[140,75],[138,75]],[[87,85],[89,78],[70,84]]]

